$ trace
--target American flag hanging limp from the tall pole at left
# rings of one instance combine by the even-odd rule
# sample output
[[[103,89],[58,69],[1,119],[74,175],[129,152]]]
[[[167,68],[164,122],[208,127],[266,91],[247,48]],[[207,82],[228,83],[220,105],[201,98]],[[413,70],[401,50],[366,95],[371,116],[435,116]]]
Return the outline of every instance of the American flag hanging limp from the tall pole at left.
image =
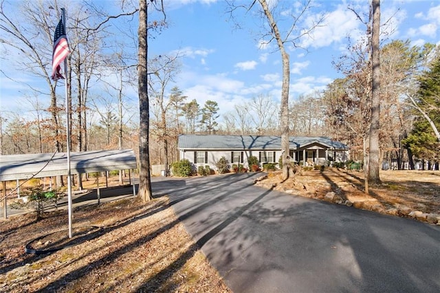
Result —
[[[69,44],[67,43],[67,36],[63,25],[63,19],[60,19],[54,34],[54,52],[52,53],[52,79],[57,80],[64,78],[61,74],[60,64],[69,54]]]

